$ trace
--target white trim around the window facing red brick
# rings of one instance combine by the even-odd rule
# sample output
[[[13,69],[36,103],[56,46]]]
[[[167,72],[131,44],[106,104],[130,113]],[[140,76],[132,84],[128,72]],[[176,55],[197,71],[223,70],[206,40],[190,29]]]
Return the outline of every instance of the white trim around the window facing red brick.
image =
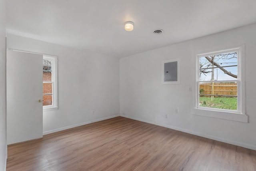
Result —
[[[43,55],[43,59],[52,60],[52,105],[43,106],[43,111],[58,109],[58,78],[57,56]]]

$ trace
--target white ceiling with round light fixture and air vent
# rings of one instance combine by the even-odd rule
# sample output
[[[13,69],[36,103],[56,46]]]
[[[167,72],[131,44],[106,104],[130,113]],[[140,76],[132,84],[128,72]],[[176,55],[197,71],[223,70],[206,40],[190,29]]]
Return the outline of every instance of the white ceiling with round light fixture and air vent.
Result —
[[[255,23],[255,7],[256,0],[6,0],[6,22],[10,34],[124,57]]]

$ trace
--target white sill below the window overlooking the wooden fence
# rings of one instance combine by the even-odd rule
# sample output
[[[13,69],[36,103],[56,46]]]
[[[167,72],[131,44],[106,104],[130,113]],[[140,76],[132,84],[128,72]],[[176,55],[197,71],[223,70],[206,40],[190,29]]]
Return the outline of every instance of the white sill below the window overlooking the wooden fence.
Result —
[[[194,115],[200,115],[200,116],[205,116],[205,117],[214,117],[214,118],[219,118],[219,119],[226,119],[226,120],[231,120],[231,121],[248,123],[248,115],[245,115],[245,114],[226,112],[226,111],[198,109],[198,108],[194,108],[192,113]]]

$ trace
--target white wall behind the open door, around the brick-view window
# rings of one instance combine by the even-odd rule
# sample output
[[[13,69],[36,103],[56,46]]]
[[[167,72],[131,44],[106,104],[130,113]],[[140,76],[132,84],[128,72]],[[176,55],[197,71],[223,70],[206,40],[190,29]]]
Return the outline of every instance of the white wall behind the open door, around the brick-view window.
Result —
[[[59,109],[44,112],[44,134],[119,115],[118,58],[11,34],[7,46],[58,57]]]

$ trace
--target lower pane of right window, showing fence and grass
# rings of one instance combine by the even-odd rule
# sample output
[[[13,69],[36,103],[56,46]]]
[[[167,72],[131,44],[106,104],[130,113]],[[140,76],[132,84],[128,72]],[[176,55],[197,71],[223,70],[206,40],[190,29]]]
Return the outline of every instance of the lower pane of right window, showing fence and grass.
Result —
[[[237,82],[199,83],[199,106],[237,110]]]

